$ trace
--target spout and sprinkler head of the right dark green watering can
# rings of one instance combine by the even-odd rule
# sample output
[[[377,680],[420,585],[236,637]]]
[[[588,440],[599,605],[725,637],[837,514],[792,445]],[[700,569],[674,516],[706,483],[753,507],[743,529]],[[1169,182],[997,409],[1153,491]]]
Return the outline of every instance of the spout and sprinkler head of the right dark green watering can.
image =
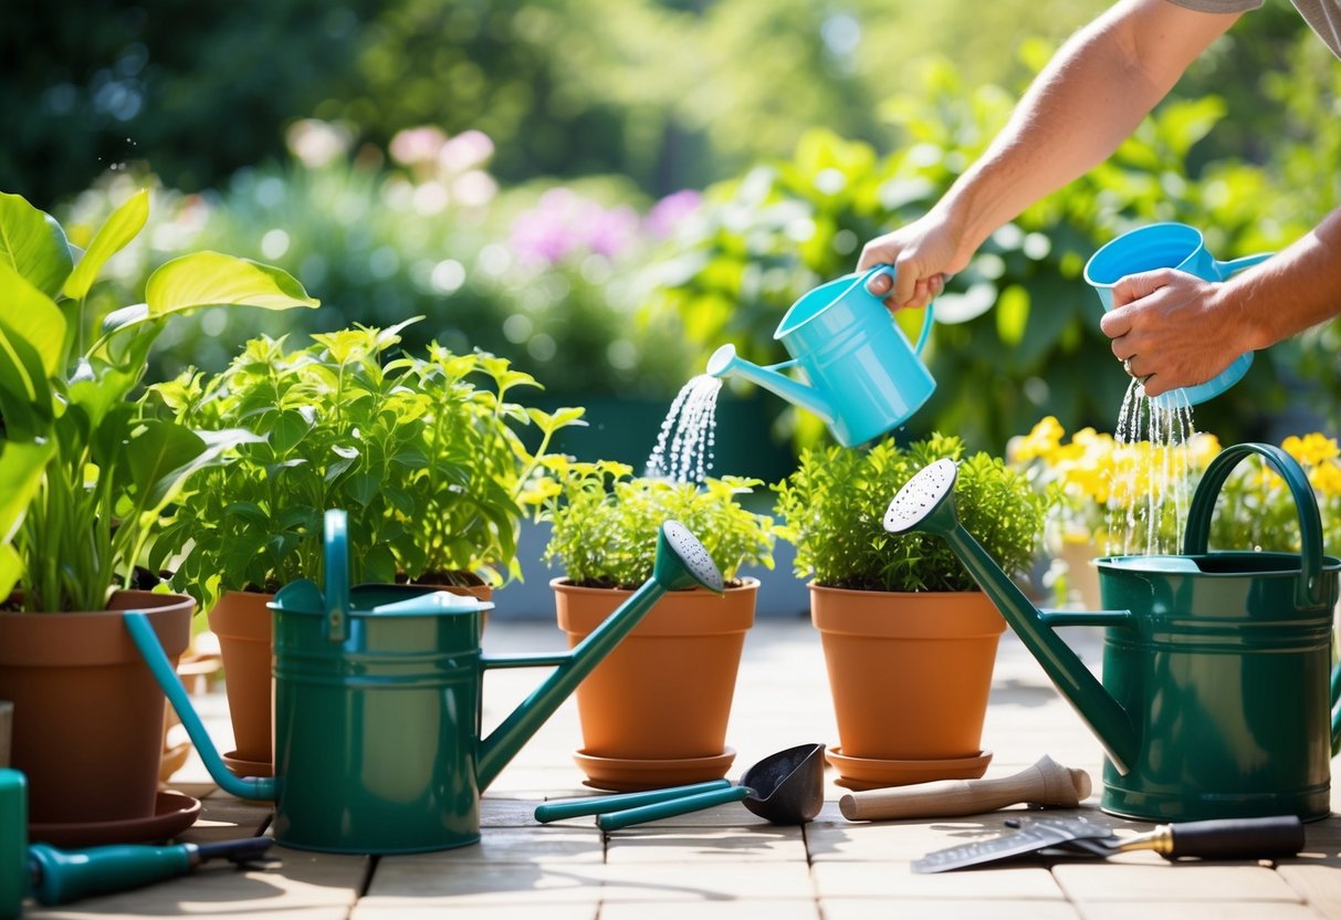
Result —
[[[889,503],[884,527],[890,534],[925,531],[943,536],[974,581],[1021,637],[1047,672],[1058,691],[1075,707],[1113,764],[1126,772],[1136,763],[1140,739],[1132,717],[1104,688],[1066,642],[1046,624],[1043,614],[1002,571],[955,514],[957,467],[944,459],[913,476]]]

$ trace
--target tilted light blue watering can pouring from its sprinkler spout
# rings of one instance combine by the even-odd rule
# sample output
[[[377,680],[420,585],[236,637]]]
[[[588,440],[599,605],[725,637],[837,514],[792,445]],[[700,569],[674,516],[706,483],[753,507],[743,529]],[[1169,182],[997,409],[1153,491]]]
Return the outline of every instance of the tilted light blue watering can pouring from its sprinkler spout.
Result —
[[[797,300],[774,339],[791,361],[760,367],[723,345],[708,358],[713,377],[743,377],[825,420],[843,447],[864,444],[902,425],[936,389],[921,362],[932,326],[927,307],[917,345],[909,345],[881,298],[866,290],[889,266],[845,275]],[[799,367],[807,382],[779,373]]]

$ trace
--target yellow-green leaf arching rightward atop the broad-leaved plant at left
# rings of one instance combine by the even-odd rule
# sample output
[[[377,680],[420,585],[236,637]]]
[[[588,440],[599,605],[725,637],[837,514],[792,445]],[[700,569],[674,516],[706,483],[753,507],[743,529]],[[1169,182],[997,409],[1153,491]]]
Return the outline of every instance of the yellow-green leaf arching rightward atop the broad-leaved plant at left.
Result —
[[[193,252],[161,266],[149,276],[145,300],[152,317],[229,304],[266,310],[320,306],[288,272],[220,252]]]

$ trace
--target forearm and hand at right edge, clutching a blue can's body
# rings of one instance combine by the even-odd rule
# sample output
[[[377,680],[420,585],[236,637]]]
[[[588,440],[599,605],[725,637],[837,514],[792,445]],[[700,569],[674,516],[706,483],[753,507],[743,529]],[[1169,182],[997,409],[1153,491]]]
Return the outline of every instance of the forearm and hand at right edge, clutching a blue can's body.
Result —
[[[1341,208],[1226,282],[1161,268],[1113,286],[1100,329],[1147,396],[1206,382],[1255,351],[1341,314]]]

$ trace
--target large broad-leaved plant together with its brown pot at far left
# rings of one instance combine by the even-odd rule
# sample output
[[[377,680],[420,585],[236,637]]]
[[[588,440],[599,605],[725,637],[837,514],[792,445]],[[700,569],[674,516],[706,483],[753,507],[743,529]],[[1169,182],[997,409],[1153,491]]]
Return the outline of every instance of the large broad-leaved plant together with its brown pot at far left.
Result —
[[[113,308],[94,282],[148,219],[138,192],[80,249],[0,194],[0,699],[20,713],[30,817],[70,844],[110,822],[133,838],[164,810],[162,692],[119,612],[145,609],[169,654],[186,648],[193,601],[141,563],[190,476],[251,437],[148,416],[133,397],[149,350],[197,307],[318,306],[276,268],[196,252],[157,268],[143,303]]]

